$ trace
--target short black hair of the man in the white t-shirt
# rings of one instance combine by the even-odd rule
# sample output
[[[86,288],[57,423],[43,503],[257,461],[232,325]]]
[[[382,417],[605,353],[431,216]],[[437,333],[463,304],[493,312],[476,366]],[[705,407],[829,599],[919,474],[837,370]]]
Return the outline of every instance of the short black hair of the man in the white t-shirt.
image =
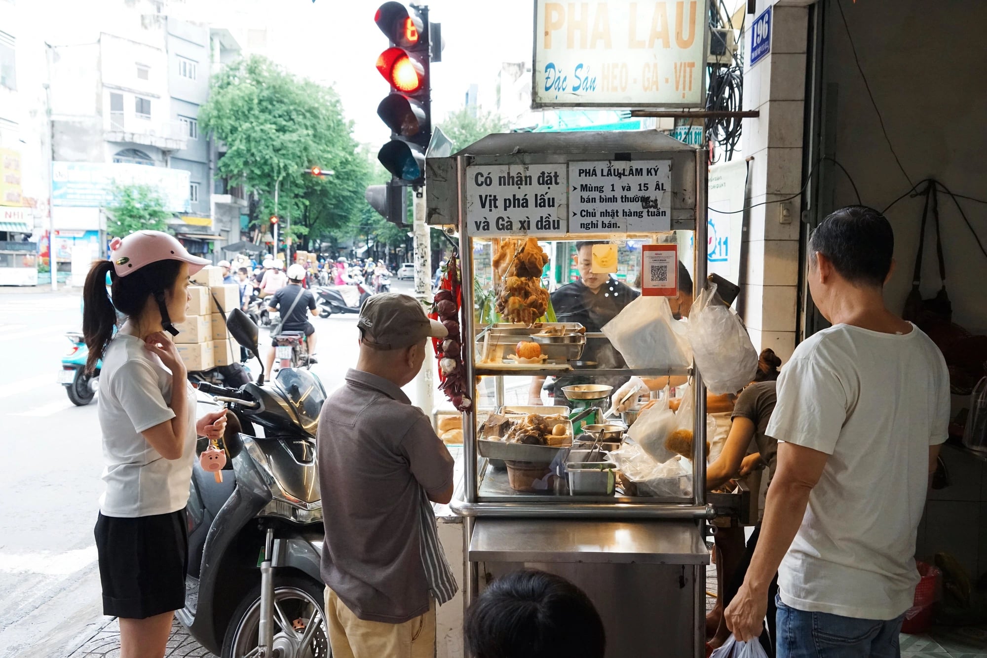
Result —
[[[881,288],[891,271],[894,231],[873,207],[846,206],[819,222],[808,248],[828,258],[847,282]],[[810,264],[814,267],[814,259]]]

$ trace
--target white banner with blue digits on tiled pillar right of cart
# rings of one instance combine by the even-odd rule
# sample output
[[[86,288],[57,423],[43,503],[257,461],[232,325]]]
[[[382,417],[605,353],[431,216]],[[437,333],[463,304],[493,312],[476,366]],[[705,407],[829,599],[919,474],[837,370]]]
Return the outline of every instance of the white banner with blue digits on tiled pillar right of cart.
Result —
[[[757,162],[753,166],[757,166]],[[747,162],[733,160],[710,167],[707,183],[709,220],[707,224],[707,266],[709,274],[740,281],[740,242],[747,186]]]

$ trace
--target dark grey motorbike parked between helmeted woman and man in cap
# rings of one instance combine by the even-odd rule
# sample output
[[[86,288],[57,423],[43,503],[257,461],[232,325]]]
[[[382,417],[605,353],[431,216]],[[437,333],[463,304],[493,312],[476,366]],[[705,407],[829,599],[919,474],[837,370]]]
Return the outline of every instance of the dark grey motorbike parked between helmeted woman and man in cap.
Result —
[[[258,356],[257,325],[240,309],[227,325]],[[296,369],[267,384],[262,372],[257,383],[198,390],[228,410],[229,458],[215,472],[193,462],[186,607],[176,616],[223,658],[329,656],[315,459],[326,390]]]

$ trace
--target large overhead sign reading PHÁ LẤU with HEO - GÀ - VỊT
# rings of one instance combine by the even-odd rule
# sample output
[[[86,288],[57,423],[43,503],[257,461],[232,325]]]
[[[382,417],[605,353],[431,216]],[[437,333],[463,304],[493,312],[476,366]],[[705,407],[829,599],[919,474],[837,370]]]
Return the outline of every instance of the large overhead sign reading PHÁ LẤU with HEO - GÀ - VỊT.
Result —
[[[709,0],[535,0],[532,107],[703,106]]]

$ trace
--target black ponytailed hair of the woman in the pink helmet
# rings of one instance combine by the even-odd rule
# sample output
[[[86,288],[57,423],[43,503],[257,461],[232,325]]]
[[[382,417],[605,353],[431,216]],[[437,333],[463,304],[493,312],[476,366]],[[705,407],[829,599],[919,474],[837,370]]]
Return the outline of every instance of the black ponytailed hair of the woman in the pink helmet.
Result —
[[[114,264],[96,261],[82,288],[82,335],[89,348],[86,371],[96,370],[107,344],[114,337],[116,311],[128,317],[143,312],[147,298],[175,285],[182,262],[165,260],[145,265],[126,277],[117,277]],[[107,294],[107,275],[112,283],[113,301]]]

